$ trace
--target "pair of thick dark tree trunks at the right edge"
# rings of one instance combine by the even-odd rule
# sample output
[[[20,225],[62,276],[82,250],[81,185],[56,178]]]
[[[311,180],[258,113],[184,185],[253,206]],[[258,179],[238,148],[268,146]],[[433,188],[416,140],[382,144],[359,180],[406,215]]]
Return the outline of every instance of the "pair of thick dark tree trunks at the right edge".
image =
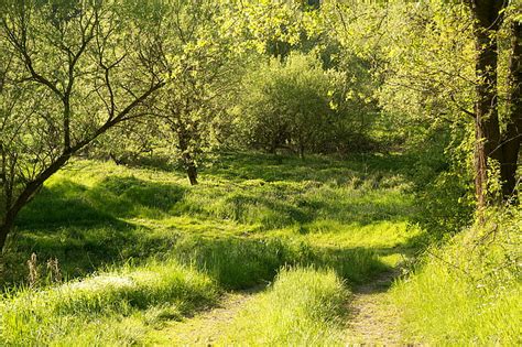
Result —
[[[516,2],[514,2],[516,3]],[[476,41],[477,100],[475,106],[476,128],[476,192],[478,206],[485,207],[493,199],[488,194],[487,183],[491,161],[500,165],[501,195],[509,199],[515,189],[516,167],[520,152],[522,115],[521,93],[521,32],[520,19],[511,23],[511,52],[509,67],[509,111],[505,130],[501,130],[498,110],[499,31],[505,19],[509,1],[470,0]],[[520,11],[520,10],[519,10]]]

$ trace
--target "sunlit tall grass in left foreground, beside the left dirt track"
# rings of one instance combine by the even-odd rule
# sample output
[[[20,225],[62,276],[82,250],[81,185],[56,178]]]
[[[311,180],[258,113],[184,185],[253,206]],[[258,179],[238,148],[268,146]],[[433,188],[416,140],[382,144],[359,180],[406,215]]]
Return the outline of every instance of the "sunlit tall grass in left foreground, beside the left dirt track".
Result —
[[[89,344],[105,345],[111,336],[118,337],[118,323],[126,317],[163,307],[163,314],[167,310],[170,318],[180,318],[217,296],[214,281],[175,261],[128,267],[44,290],[4,294],[0,340],[14,346],[50,345],[81,335],[85,344],[94,339]],[[99,330],[104,325],[109,336]]]

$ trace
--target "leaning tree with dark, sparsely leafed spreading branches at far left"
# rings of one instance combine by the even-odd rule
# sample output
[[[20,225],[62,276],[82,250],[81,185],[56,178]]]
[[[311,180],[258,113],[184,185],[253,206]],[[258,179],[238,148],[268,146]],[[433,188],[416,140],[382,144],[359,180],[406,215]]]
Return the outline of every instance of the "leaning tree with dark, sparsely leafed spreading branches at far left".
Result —
[[[118,1],[6,0],[0,13],[3,248],[44,182],[100,134],[142,115],[163,80],[146,44],[129,35],[132,13]]]

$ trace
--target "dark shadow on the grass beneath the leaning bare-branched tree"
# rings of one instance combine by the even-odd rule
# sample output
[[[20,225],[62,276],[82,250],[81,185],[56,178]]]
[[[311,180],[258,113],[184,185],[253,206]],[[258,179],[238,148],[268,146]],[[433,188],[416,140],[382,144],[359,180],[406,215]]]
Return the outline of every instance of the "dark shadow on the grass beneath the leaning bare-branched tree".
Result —
[[[157,246],[146,245],[148,230],[119,218],[159,216],[183,194],[180,186],[134,177],[107,177],[94,188],[70,181],[44,187],[22,210],[8,239],[0,285],[24,282],[33,252],[42,281],[48,259],[56,258],[62,274],[72,279],[150,257]]]

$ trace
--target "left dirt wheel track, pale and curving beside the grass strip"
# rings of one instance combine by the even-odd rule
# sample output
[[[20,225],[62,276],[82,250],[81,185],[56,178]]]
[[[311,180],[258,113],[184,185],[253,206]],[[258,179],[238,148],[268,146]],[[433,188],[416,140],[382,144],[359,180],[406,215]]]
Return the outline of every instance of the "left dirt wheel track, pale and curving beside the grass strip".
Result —
[[[246,291],[227,293],[218,306],[197,314],[183,322],[172,322],[157,332],[153,345],[167,346],[211,346],[238,312],[252,300],[265,285]]]

